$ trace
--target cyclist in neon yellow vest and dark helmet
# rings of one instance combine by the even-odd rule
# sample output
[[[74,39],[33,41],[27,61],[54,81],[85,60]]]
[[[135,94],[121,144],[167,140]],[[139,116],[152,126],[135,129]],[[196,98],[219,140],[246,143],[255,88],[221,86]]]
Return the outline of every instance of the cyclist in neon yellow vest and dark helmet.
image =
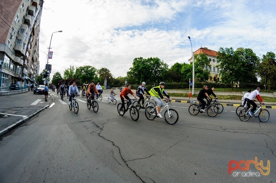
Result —
[[[161,114],[160,114],[160,108],[164,104],[161,99],[163,99],[165,101],[165,99],[162,96],[162,94],[164,94],[168,99],[172,100],[170,98],[170,96],[167,94],[167,92],[164,90],[164,87],[165,87],[165,83],[164,82],[160,82],[159,86],[153,87],[152,89],[150,89],[150,92],[149,92],[150,95],[152,96],[152,100],[154,102],[156,102],[156,104],[157,104],[157,112],[158,112],[157,116],[159,118],[163,118],[161,116]]]

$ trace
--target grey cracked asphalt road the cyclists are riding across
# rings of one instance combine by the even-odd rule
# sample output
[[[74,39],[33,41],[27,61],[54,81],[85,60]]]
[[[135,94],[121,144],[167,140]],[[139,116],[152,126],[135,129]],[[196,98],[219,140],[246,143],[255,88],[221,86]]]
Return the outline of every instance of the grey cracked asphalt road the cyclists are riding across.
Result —
[[[78,114],[53,94],[51,107],[1,136],[0,182],[275,182],[275,109],[268,109],[265,123],[258,118],[242,122],[233,106],[224,106],[216,117],[191,116],[189,104],[173,102],[179,121],[170,125],[164,118],[147,120],[144,110],[137,121],[128,112],[120,116],[118,95],[114,105],[108,104],[105,93],[97,113],[78,97]],[[24,95],[9,98],[10,103],[26,102],[14,114],[26,115],[35,108],[30,104],[43,97]],[[36,107],[45,106],[43,101]],[[233,176],[249,171],[239,169],[228,173],[229,161],[255,157],[264,166],[270,161],[267,176]],[[251,174],[260,172],[253,163],[249,169]]]

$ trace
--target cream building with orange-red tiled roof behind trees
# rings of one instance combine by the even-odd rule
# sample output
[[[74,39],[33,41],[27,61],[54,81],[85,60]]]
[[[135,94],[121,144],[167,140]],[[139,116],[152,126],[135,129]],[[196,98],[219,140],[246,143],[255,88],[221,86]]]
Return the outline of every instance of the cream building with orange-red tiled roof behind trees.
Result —
[[[208,59],[210,61],[210,65],[211,65],[209,67],[207,65],[205,66],[205,69],[206,70],[208,69],[210,71],[209,79],[206,82],[212,82],[212,83],[220,82],[219,69],[216,68],[216,66],[218,65],[218,61],[216,59],[217,51],[210,50],[206,47],[204,47],[204,48],[201,47],[194,52],[194,54],[200,54],[200,53],[206,54],[206,56],[208,57]],[[192,63],[193,57],[191,57],[188,61],[189,61],[189,63]]]

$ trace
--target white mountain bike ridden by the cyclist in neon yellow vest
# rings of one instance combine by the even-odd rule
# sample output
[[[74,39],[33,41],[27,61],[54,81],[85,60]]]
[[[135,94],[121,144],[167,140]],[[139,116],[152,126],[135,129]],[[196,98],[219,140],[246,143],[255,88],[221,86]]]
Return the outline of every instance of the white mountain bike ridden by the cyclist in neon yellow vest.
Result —
[[[179,115],[175,109],[170,108],[171,101],[169,99],[166,99],[165,101],[166,101],[166,104],[161,105],[160,112],[162,112],[162,110],[167,108],[167,110],[164,112],[164,120],[168,124],[175,124],[178,121]],[[162,106],[164,106],[164,107],[162,108]],[[158,106],[155,106],[155,107],[147,106],[147,108],[145,109],[145,116],[148,120],[154,120],[156,117],[158,117],[157,116],[157,108],[158,108]]]

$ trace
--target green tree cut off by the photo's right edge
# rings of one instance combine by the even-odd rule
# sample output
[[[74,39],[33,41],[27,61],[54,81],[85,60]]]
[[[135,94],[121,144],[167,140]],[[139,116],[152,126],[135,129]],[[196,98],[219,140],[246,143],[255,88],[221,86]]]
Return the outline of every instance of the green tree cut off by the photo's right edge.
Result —
[[[275,53],[267,52],[262,55],[262,62],[258,66],[258,74],[264,82],[265,90],[270,92],[271,86],[276,79],[276,62]]]

